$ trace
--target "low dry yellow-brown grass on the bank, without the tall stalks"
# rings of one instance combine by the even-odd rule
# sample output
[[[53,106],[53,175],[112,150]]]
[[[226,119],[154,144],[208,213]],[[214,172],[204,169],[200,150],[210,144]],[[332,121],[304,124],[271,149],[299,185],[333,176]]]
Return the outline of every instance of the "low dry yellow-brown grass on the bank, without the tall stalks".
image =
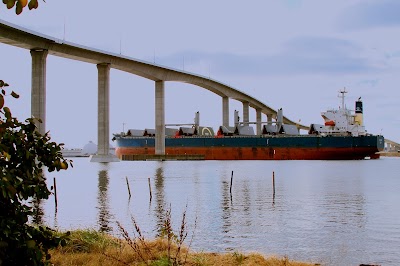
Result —
[[[64,265],[280,265],[310,266],[312,263],[294,262],[288,258],[265,258],[260,254],[242,254],[238,252],[196,253],[188,248],[168,243],[168,239],[136,242],[132,249],[126,240],[113,238],[94,230],[74,231],[65,247],[51,250],[51,262],[55,266]],[[171,260],[170,254],[178,254]]]

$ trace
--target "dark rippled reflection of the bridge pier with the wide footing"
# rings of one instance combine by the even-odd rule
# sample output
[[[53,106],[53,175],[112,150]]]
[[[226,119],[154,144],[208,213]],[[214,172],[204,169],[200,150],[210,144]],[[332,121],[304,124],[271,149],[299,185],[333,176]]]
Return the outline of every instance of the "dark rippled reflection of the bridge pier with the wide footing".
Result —
[[[100,232],[111,232],[112,227],[109,225],[111,220],[110,207],[108,205],[108,170],[99,171],[99,182],[98,189],[99,194],[97,196],[98,206],[98,225],[100,226]]]

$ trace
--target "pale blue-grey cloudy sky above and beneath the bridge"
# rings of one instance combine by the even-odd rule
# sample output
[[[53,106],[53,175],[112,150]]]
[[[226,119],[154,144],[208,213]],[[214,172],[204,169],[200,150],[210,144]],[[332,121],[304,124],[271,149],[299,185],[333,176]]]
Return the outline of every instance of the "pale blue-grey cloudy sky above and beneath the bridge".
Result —
[[[39,0],[37,10],[0,6],[0,18],[55,38],[210,77],[304,125],[362,97],[369,133],[400,142],[400,1],[396,0]],[[0,79],[20,94],[6,99],[30,116],[29,51],[0,44]],[[110,137],[154,128],[154,81],[112,69]],[[166,82],[166,123],[222,124],[219,96]],[[230,101],[233,112],[242,104]],[[97,68],[47,58],[47,130],[67,148],[97,142]],[[255,110],[250,109],[255,121]],[[266,121],[266,117],[263,116]],[[113,143],[111,142],[111,145]]]

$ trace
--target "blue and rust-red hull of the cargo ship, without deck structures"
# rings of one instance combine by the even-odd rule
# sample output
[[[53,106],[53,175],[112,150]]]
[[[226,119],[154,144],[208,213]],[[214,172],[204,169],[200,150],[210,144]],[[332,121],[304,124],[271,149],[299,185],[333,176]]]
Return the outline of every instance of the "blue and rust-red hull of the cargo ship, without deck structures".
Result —
[[[152,137],[116,139],[116,155],[153,155]],[[359,160],[379,158],[382,136],[271,136],[166,138],[165,154],[201,155],[205,160]]]

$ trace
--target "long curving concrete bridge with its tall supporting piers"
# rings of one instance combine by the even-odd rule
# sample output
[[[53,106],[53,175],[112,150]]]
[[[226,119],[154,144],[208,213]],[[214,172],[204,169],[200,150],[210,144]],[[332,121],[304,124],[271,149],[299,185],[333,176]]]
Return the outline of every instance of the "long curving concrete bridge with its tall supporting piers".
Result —
[[[0,20],[0,42],[30,51],[32,56],[32,95],[31,114],[40,118],[43,123],[38,124],[38,130],[46,132],[46,58],[54,55],[68,59],[91,63],[98,69],[98,151],[92,161],[107,162],[111,158],[108,154],[109,130],[109,92],[110,68],[118,69],[138,75],[155,82],[155,128],[156,154],[165,154],[165,94],[164,84],[167,81],[177,81],[193,84],[211,92],[222,99],[222,125],[229,126],[229,100],[234,99],[243,104],[243,122],[249,122],[249,108],[256,110],[256,132],[261,134],[261,116],[265,114],[267,121],[276,117],[277,111],[261,101],[251,97],[228,85],[193,73],[179,71],[150,62],[104,52],[66,42],[46,36],[26,28]],[[286,124],[297,125],[298,128],[308,130],[307,126],[297,124],[284,117]]]

